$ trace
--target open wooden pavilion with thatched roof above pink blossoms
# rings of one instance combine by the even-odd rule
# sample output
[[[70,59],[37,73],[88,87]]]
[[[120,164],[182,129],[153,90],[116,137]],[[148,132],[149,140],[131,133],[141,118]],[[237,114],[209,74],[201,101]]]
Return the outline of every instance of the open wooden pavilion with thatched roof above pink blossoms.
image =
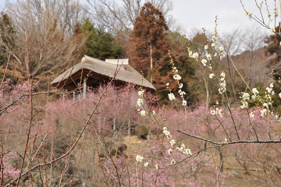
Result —
[[[129,59],[119,59],[118,66],[120,66],[121,62],[123,65],[119,70],[115,81],[115,85],[124,85],[126,83],[132,83],[137,86],[142,85],[141,74],[137,72],[134,68],[129,65]],[[75,90],[77,86],[85,84],[81,87],[81,92],[83,91],[83,96],[86,96],[86,88],[97,88],[101,87],[105,82],[109,82],[110,78],[113,77],[113,74],[116,70],[117,59],[106,59],[98,60],[92,58],[90,56],[84,55],[81,58],[81,62],[74,65],[74,69],[67,70],[61,75],[59,75],[55,80],[51,82],[53,86],[63,86],[63,91],[71,91]],[[90,73],[91,72],[91,73]],[[88,79],[87,79],[87,75]],[[69,78],[68,78],[69,77]],[[155,92],[155,87],[143,78],[143,85],[145,89]],[[77,92],[73,92],[73,100],[75,101],[75,96]],[[76,97],[79,99],[79,97]]]

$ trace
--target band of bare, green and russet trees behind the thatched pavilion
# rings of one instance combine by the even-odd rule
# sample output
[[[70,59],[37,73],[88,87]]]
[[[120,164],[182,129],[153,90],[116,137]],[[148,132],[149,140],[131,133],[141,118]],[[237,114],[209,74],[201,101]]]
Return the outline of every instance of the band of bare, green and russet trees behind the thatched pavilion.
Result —
[[[83,3],[19,0],[6,6],[0,15],[0,65],[5,67],[11,55],[7,76],[12,82],[17,82],[26,72],[28,38],[29,73],[41,81],[42,89],[48,87],[47,79],[70,67],[80,53],[101,60],[129,58],[130,64],[138,71],[143,70],[145,77],[155,85],[159,104],[164,104],[168,93],[165,84],[173,76],[167,55],[170,49],[184,86],[187,86],[188,105],[204,103],[211,106],[219,99],[213,96],[217,88],[208,79],[209,75],[195,68],[199,62],[189,58],[184,43],[185,32],[175,29],[179,27],[171,21],[169,12],[173,7],[170,0],[121,0],[118,3],[87,0]],[[202,33],[202,30],[194,30],[187,39],[199,55],[204,52],[200,46],[206,43]],[[250,86],[268,84],[266,80],[271,69],[275,71],[274,76],[279,77],[278,36],[267,36],[257,28],[234,29],[219,35],[220,45],[224,49],[230,47],[230,56],[225,53],[219,63],[231,80],[228,86],[231,96],[238,96],[237,90],[242,82],[229,57],[235,60]],[[207,38],[211,37],[212,34],[207,32]],[[258,79],[254,78],[257,71]],[[177,87],[170,83],[173,91]]]

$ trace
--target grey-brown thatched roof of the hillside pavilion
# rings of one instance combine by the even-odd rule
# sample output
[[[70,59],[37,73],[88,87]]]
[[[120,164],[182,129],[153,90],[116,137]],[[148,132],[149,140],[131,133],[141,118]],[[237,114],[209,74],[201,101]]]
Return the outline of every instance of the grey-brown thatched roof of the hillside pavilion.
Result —
[[[129,65],[128,59],[119,59],[118,66],[120,66],[122,62],[124,63],[121,66],[118,75],[116,76],[118,81],[128,82],[141,86],[142,85],[141,74]],[[71,76],[71,79],[68,80],[76,80],[77,78],[79,78],[80,80],[82,69],[83,72],[91,71],[91,74],[95,74],[96,77],[101,76],[103,78],[112,78],[116,70],[116,65],[117,65],[116,59],[114,60],[106,59],[106,61],[103,61],[84,55],[81,59],[81,62],[74,65],[73,67],[74,69],[72,70],[71,74],[70,74],[71,69],[65,71],[64,73],[59,75],[55,80],[53,80],[51,84],[56,86],[59,82],[66,81],[69,76]],[[143,81],[144,81],[143,85],[145,87],[155,90],[155,87],[145,78],[143,78]]]

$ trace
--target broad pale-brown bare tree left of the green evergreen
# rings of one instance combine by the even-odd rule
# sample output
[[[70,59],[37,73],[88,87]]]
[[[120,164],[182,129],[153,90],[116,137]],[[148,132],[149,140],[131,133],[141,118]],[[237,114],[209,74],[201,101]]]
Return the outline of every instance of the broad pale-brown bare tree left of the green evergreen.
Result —
[[[23,47],[27,38],[32,46],[29,70],[35,77],[60,73],[84,44],[85,37],[74,33],[84,15],[76,1],[18,0],[8,6],[7,15],[14,23],[14,32],[4,33],[9,42],[1,38],[0,45],[12,55],[11,63],[21,72],[27,69]]]

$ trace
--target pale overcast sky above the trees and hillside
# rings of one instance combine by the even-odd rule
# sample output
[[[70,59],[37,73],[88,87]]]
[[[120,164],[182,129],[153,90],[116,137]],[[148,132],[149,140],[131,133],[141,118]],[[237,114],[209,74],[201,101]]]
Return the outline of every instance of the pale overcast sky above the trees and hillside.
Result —
[[[7,0],[0,0],[0,8],[2,9],[4,2]],[[15,0],[9,0],[13,2]],[[78,0],[77,0],[78,1]],[[80,0],[85,2],[85,0]],[[95,0],[93,0],[95,1]],[[120,2],[121,0],[115,0]],[[173,2],[173,10],[170,14],[174,17],[178,24],[182,25],[185,34],[190,35],[191,30],[201,29],[204,27],[208,32],[214,30],[215,16],[218,16],[218,32],[231,32],[231,30],[238,27],[245,28],[246,26],[252,27],[254,24],[260,28],[261,25],[255,23],[254,20],[249,20],[240,0],[171,0]],[[252,12],[253,15],[260,17],[259,9],[255,5],[254,0],[242,0],[244,7],[247,11]],[[261,0],[257,0],[258,3]],[[274,0],[268,0],[269,11],[272,13],[274,8]],[[279,2],[279,1],[278,1]],[[277,7],[280,7],[277,5]],[[264,9],[265,18],[267,12]],[[280,10],[279,10],[280,11]],[[280,16],[280,13],[279,13]],[[270,27],[274,27],[274,24]],[[269,31],[268,31],[269,33]]]

